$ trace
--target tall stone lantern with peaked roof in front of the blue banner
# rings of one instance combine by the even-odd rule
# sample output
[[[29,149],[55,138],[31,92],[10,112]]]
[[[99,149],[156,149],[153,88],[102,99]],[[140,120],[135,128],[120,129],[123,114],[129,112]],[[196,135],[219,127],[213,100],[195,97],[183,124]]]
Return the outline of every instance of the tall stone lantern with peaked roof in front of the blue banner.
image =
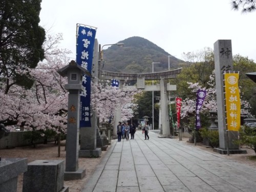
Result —
[[[74,60],[69,65],[58,70],[58,73],[62,77],[68,77],[68,84],[65,84],[65,89],[69,91],[64,180],[82,179],[86,175],[86,170],[78,169],[80,92],[83,88],[83,74],[90,77],[91,74],[88,70],[77,65]]]

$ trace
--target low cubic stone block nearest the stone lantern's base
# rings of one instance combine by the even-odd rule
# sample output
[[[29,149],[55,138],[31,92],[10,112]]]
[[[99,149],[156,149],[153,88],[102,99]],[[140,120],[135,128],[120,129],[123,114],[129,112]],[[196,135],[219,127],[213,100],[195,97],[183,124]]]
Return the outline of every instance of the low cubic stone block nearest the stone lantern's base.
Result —
[[[63,160],[36,160],[28,164],[23,177],[23,192],[64,192],[69,187],[64,184]]]

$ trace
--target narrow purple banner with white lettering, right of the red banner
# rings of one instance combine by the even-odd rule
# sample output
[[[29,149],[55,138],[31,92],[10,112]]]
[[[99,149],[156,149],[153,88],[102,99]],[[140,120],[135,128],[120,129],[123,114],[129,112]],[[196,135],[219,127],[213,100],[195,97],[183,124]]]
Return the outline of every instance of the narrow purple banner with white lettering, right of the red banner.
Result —
[[[197,91],[197,100],[196,100],[196,129],[201,129],[201,122],[200,122],[200,110],[202,108],[204,99],[206,96],[206,90],[198,90]]]

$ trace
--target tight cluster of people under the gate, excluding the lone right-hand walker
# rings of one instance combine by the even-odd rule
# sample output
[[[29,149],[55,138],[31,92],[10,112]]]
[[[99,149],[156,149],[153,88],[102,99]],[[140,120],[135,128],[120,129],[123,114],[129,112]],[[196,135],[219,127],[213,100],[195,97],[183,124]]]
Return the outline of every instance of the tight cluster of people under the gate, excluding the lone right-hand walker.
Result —
[[[129,122],[123,123],[119,122],[117,125],[117,136],[118,141],[121,141],[121,139],[129,140],[129,135],[131,134],[131,139],[134,139],[134,134],[136,132],[136,126],[134,123],[130,124]]]

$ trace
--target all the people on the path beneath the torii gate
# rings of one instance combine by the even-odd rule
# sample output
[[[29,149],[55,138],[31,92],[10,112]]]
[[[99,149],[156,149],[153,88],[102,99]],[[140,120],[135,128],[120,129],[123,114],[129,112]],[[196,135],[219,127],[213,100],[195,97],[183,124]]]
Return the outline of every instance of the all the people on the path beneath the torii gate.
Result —
[[[148,137],[148,130],[150,130],[150,125],[146,122],[145,125],[143,126],[142,133],[145,135],[145,140],[150,139]],[[121,139],[126,139],[129,140],[129,134],[131,134],[131,139],[134,139],[134,134],[136,132],[136,126],[134,123],[130,125],[129,122],[123,123],[119,122],[117,125],[117,137],[118,137],[118,142],[121,141]]]

